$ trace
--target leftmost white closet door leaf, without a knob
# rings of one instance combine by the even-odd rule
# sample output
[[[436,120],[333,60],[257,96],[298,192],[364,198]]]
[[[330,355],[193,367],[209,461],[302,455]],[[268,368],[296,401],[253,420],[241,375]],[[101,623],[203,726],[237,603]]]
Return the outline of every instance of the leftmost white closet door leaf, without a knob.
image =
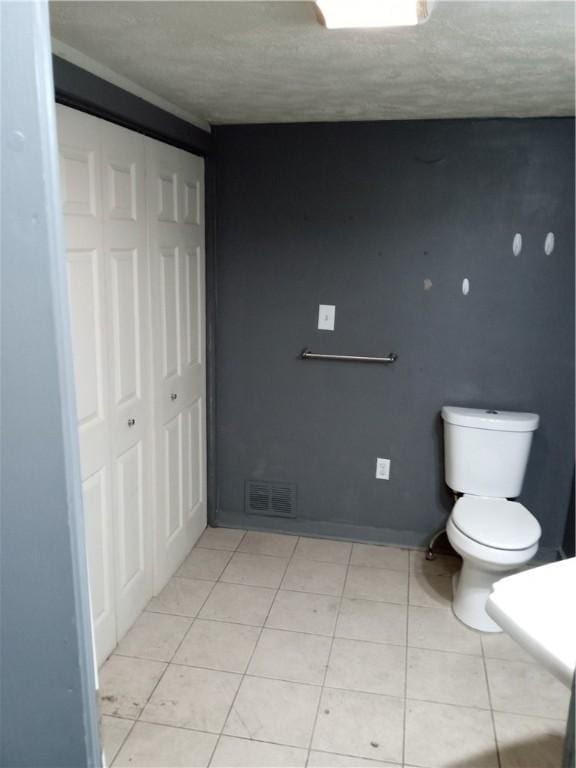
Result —
[[[57,115],[88,578],[101,663],[116,644],[101,135],[88,115],[62,106]]]

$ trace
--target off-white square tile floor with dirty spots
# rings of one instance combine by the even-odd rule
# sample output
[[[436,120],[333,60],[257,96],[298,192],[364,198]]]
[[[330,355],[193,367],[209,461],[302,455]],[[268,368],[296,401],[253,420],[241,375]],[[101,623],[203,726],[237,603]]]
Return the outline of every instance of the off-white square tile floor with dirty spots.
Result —
[[[207,530],[101,671],[108,764],[559,768],[569,694],[452,558]]]

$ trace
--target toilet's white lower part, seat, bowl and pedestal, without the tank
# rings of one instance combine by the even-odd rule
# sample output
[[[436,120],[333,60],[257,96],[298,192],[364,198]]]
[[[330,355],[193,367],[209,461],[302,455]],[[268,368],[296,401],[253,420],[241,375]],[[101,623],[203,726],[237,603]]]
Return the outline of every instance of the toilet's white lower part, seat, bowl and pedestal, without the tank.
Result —
[[[446,533],[462,557],[453,581],[454,614],[474,629],[501,632],[486,612],[492,584],[534,557],[540,524],[518,502],[465,495],[452,510]]]

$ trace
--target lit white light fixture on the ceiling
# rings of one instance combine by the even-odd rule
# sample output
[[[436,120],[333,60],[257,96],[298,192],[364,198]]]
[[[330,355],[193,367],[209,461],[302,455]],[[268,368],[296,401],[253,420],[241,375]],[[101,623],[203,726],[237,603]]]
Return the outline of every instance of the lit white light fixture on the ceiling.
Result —
[[[408,27],[426,21],[426,0],[316,0],[327,29]]]

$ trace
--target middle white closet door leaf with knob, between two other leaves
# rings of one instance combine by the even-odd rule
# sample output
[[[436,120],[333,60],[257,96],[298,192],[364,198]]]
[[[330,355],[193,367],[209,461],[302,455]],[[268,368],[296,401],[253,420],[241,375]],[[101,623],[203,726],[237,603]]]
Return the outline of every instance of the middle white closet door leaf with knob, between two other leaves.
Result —
[[[124,128],[102,122],[102,131],[116,612],[120,639],[152,596],[145,147],[142,136]]]

